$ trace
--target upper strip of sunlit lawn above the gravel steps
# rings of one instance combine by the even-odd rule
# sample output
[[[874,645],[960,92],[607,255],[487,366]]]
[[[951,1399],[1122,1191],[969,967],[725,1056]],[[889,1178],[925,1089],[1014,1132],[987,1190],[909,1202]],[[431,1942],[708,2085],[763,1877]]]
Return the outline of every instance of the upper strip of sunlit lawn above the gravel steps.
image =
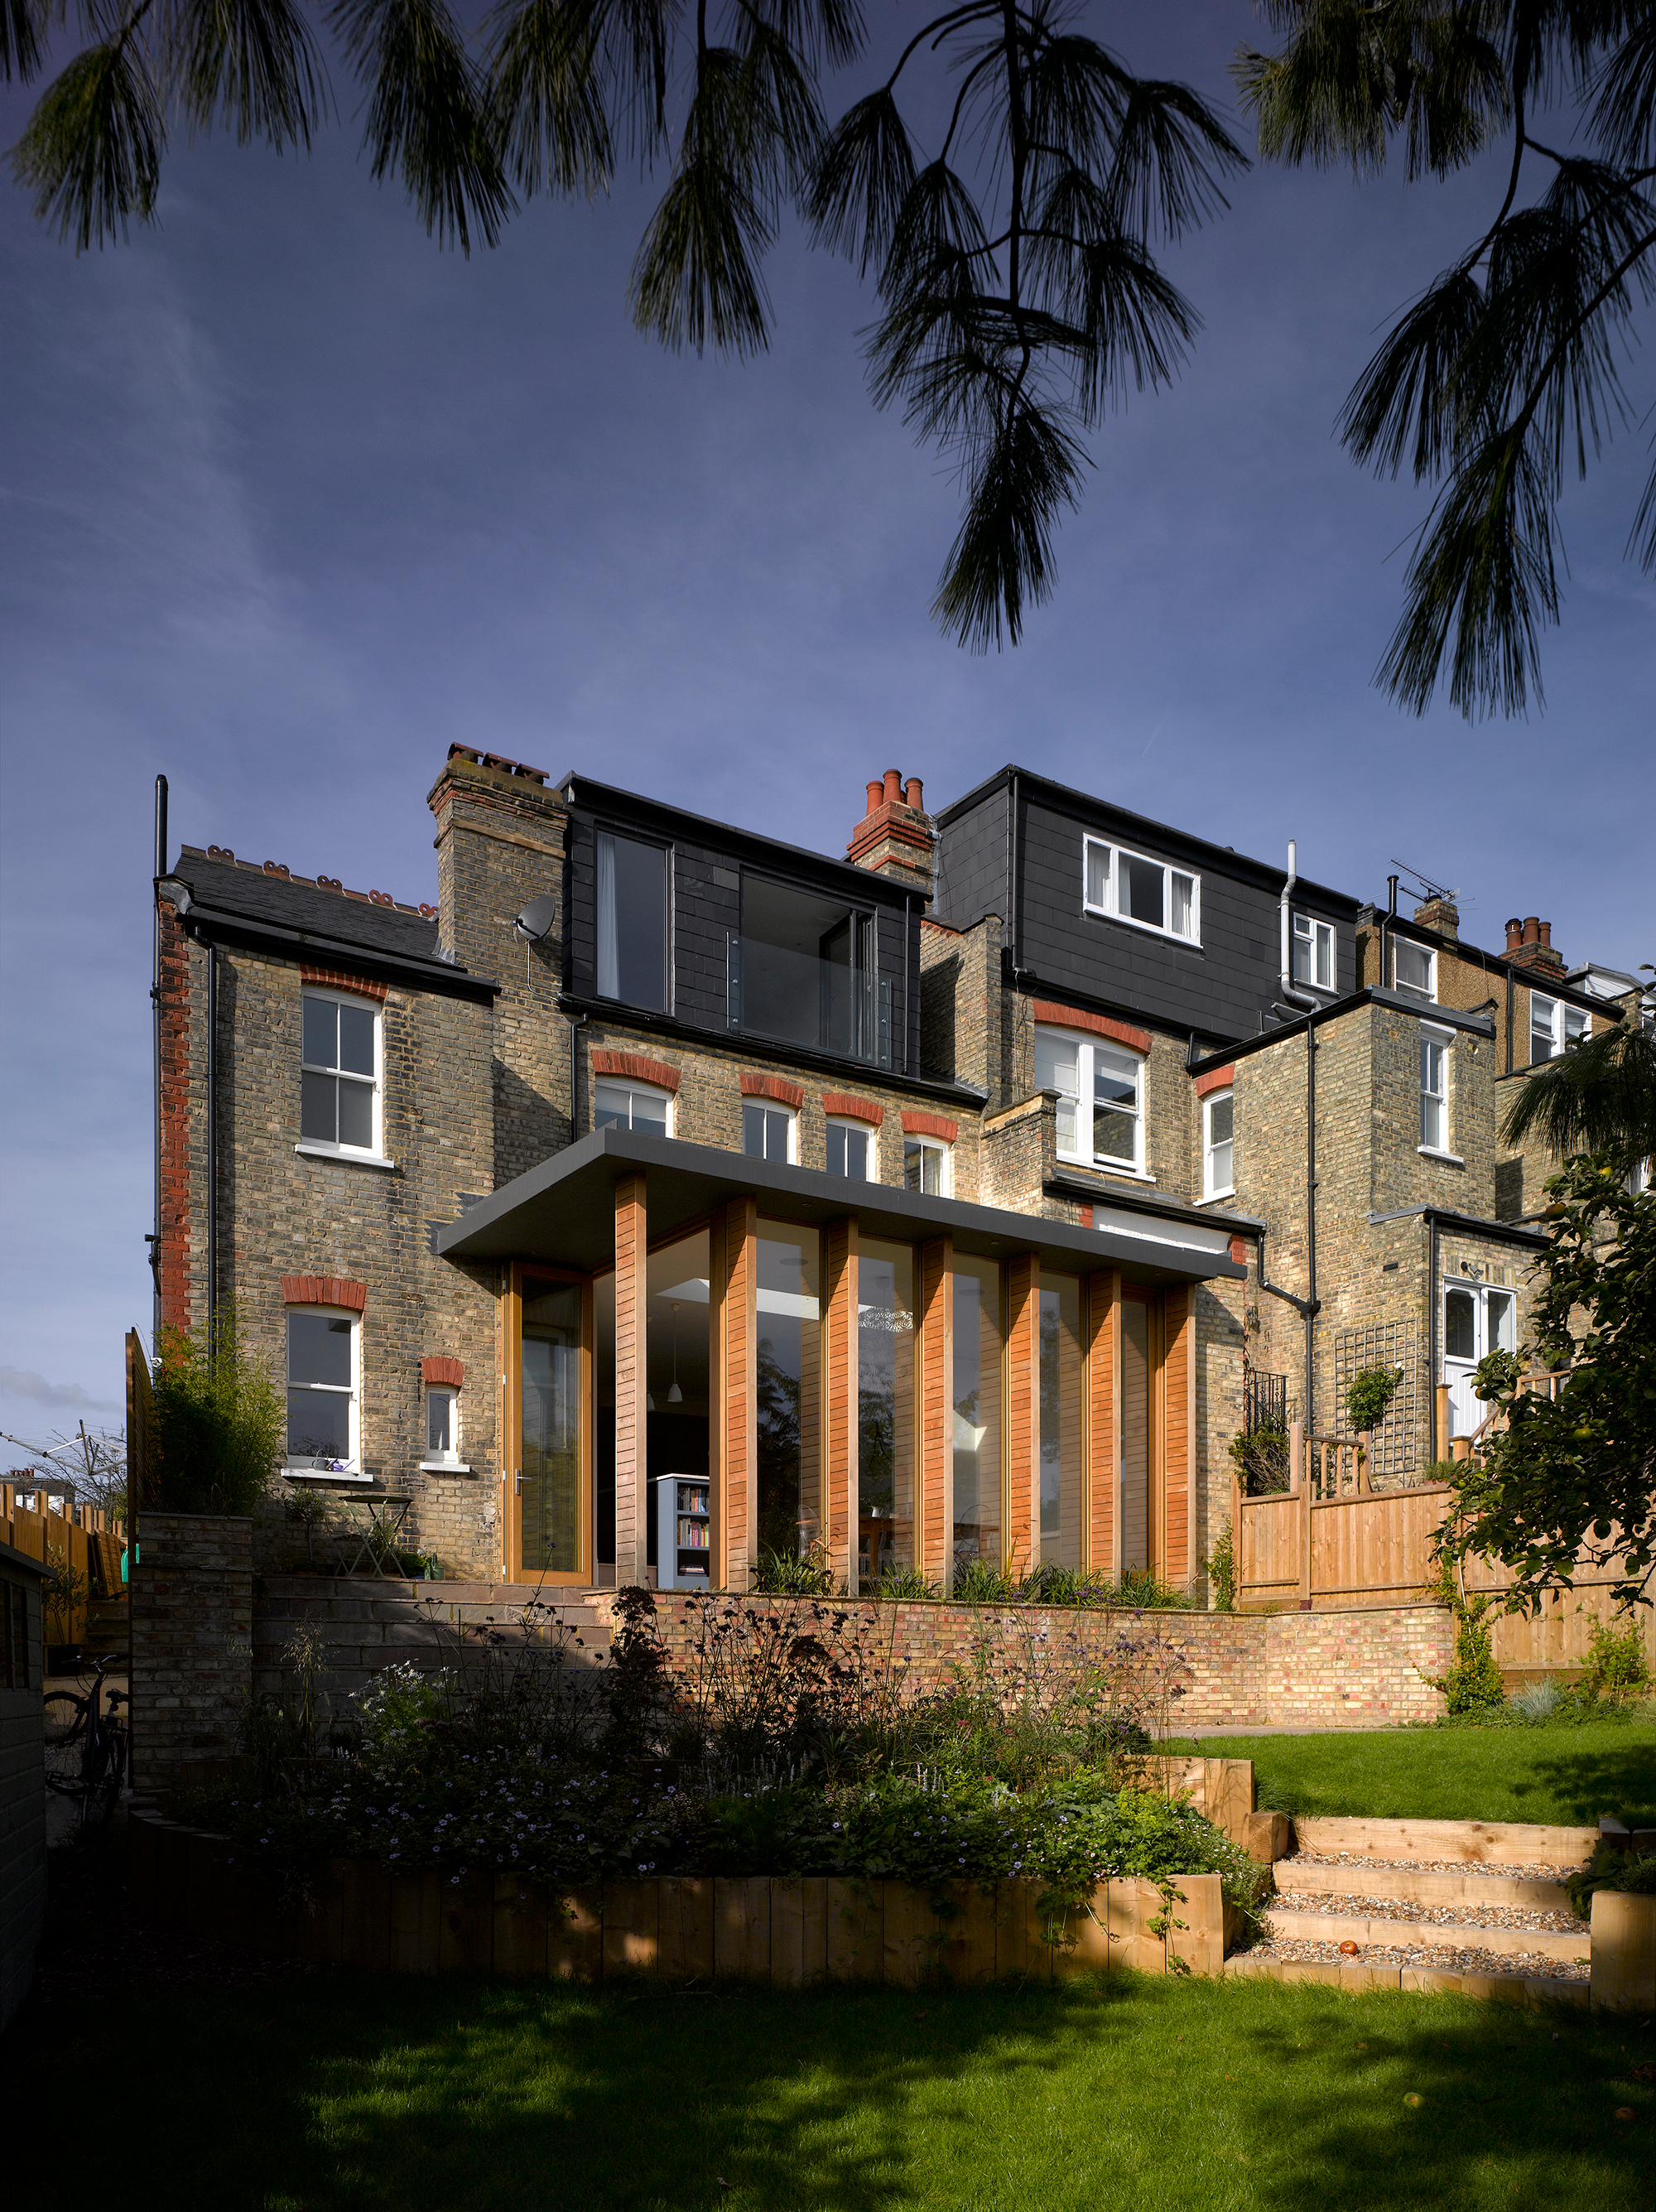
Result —
[[[1276,1812],[1375,1820],[1656,1820],[1656,1725],[1384,1728],[1364,1734],[1207,1736],[1201,1750],[1251,1759],[1258,1803]]]

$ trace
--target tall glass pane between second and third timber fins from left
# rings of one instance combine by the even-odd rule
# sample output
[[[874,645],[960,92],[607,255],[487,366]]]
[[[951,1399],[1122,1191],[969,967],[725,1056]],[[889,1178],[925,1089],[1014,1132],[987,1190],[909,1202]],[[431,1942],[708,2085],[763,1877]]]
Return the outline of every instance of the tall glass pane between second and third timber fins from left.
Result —
[[[758,1223],[758,1548],[785,1557],[822,1533],[816,1267],[816,1230]]]

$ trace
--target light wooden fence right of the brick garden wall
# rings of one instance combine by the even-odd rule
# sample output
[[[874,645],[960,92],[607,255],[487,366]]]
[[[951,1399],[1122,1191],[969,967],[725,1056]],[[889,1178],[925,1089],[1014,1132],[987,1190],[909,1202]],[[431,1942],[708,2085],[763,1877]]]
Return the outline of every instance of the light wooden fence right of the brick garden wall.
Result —
[[[1437,1579],[1433,1537],[1450,1495],[1446,1482],[1375,1491],[1355,1438],[1307,1438],[1296,1422],[1289,1431],[1287,1491],[1243,1498],[1231,1482],[1238,1610],[1322,1613],[1430,1601]],[[1614,1582],[1614,1562],[1583,1564],[1576,1586],[1550,1593],[1532,1619],[1490,1615],[1499,1666],[1526,1672],[1581,1668],[1590,1624],[1610,1621],[1616,1613]],[[1468,1595],[1501,1597],[1510,1586],[1512,1577],[1499,1564],[1468,1562]],[[1641,1606],[1634,1619],[1656,1666],[1656,1608]]]

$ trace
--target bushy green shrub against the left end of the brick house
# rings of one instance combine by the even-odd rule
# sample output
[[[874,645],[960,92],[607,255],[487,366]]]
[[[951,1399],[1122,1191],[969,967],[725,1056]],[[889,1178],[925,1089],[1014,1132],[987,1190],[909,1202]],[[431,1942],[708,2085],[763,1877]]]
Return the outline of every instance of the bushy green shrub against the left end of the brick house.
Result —
[[[164,1513],[252,1513],[287,1433],[265,1360],[241,1343],[234,1307],[212,1334],[161,1329],[155,1365],[155,1491]]]

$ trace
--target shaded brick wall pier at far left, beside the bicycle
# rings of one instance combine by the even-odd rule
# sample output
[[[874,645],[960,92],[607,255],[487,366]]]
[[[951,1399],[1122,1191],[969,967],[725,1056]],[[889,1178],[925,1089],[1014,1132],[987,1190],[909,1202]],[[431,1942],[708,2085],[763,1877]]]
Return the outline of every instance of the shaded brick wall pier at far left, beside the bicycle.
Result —
[[[146,1511],[130,1577],[133,1783],[150,1792],[237,1750],[252,1688],[252,1522]]]

